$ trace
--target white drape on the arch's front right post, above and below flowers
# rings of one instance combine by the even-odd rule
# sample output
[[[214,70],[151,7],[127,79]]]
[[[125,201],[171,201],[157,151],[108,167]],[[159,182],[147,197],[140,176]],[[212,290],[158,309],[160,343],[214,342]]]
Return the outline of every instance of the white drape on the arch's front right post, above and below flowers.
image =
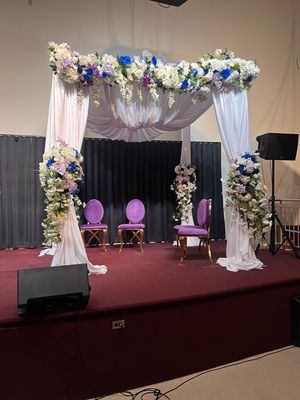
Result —
[[[250,150],[247,92],[215,90],[213,101],[225,154],[231,163],[237,155]],[[232,272],[263,267],[255,256],[248,227],[242,223],[237,210],[231,213],[226,258],[219,258],[217,263]]]

